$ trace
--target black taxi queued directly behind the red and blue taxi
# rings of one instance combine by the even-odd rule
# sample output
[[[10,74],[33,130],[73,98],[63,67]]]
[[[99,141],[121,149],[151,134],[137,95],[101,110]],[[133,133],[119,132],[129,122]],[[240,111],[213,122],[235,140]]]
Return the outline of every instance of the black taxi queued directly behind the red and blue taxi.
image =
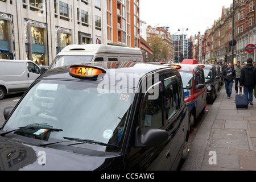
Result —
[[[204,69],[205,83],[207,84],[207,101],[213,103],[220,88],[220,76],[217,75],[215,65],[200,64]]]

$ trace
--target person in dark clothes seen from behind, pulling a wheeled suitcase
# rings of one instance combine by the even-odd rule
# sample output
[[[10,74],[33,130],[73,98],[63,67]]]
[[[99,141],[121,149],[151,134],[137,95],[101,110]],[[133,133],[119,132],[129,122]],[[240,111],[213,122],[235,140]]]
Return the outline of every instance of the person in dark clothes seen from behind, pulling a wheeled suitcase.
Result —
[[[253,89],[256,85],[256,68],[253,67],[253,59],[247,59],[247,64],[241,71],[241,86],[245,91],[250,105],[253,105]]]

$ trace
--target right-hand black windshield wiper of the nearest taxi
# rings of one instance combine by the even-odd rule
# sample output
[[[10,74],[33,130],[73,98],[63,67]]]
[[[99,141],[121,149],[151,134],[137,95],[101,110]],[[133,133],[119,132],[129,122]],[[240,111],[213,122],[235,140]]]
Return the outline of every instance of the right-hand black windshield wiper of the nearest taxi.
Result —
[[[97,145],[106,146],[106,147],[118,147],[118,146],[116,146],[114,144],[108,144],[108,143],[98,142],[98,141],[89,140],[89,139],[69,138],[69,137],[63,137],[63,138],[67,139],[68,141],[59,141],[59,142],[52,142],[52,143],[42,143],[42,144],[40,144],[40,146],[48,146],[50,144],[63,143],[63,142],[81,142],[81,143],[97,144]],[[68,146],[73,146],[73,145],[81,144],[81,143],[72,143],[72,144],[68,144]]]

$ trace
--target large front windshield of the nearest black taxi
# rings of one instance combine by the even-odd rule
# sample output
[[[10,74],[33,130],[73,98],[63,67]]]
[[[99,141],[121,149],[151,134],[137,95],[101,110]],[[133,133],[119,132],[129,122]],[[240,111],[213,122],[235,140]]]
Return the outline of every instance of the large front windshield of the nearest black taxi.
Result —
[[[22,128],[14,134],[41,142],[97,141],[104,145],[93,147],[103,152],[108,146],[120,148],[135,93],[122,94],[113,89],[115,86],[98,88],[98,84],[89,82],[38,81],[16,107],[3,131]],[[51,128],[58,131],[43,130]],[[96,142],[80,143],[79,147],[90,148]]]

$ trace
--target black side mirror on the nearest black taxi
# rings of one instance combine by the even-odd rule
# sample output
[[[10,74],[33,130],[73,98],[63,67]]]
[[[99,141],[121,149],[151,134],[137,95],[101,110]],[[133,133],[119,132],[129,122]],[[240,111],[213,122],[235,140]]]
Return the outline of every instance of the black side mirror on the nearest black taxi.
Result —
[[[137,127],[135,134],[135,147],[158,147],[166,143],[168,139],[169,134],[166,130],[148,129],[145,134],[142,134],[141,129]]]

